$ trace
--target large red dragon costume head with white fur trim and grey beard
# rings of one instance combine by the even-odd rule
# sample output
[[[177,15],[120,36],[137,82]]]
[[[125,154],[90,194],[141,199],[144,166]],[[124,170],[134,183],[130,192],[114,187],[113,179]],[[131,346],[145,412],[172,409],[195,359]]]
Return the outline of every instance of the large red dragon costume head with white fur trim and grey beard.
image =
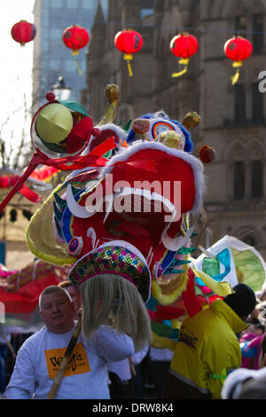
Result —
[[[137,350],[146,342],[172,349],[184,316],[231,292],[191,256],[192,219],[205,193],[202,161],[215,151],[192,154],[196,113],[177,122],[158,111],[122,129],[113,123],[119,88],[107,86],[106,98],[79,159],[89,164],[73,169],[35,212],[27,245],[44,261],[71,267],[85,335],[108,322],[131,334]],[[49,131],[45,140],[51,143]]]

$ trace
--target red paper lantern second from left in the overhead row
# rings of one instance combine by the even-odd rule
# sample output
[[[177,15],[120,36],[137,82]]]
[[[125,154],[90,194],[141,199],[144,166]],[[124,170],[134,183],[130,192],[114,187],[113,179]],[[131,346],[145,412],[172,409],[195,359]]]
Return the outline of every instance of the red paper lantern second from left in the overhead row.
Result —
[[[90,35],[85,28],[82,28],[79,25],[72,25],[64,30],[62,39],[66,47],[72,50],[72,55],[76,57],[79,54],[79,50],[89,43]],[[82,75],[82,71],[78,66],[76,59],[74,59],[74,63],[79,74]]]

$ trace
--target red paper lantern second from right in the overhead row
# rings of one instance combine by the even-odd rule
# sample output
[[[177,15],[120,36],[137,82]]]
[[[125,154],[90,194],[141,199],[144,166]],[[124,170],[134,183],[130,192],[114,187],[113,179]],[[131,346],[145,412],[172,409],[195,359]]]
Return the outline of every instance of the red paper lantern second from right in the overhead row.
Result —
[[[199,49],[198,39],[190,34],[179,34],[173,37],[170,42],[170,50],[176,57],[181,58],[179,64],[184,64],[184,69],[179,73],[172,74],[173,77],[184,75],[187,72],[189,60]]]

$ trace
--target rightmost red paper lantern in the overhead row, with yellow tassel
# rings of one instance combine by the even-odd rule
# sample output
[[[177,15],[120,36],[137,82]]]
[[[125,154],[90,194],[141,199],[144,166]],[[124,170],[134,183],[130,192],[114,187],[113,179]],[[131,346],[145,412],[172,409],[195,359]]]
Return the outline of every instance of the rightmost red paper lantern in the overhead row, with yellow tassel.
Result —
[[[231,83],[235,84],[239,80],[242,61],[248,59],[253,52],[252,43],[242,36],[234,36],[224,43],[223,50],[227,58],[233,61],[232,67],[238,68],[236,74],[231,77]]]

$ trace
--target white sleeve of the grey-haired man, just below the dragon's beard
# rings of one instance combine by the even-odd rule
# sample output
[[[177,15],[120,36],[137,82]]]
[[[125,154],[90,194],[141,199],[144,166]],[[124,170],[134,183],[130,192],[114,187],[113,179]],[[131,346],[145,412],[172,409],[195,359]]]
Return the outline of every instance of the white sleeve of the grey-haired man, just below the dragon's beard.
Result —
[[[134,343],[131,337],[108,326],[99,327],[89,342],[84,341],[84,344],[88,345],[88,343],[99,357],[106,359],[106,362],[116,362],[134,354]]]

